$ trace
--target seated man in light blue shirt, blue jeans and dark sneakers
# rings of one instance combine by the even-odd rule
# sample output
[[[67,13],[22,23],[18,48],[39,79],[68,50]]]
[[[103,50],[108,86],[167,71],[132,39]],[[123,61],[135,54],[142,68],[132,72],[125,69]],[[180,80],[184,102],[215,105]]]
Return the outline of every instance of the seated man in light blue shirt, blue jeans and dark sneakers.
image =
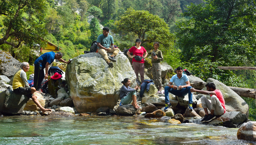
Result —
[[[164,88],[166,106],[164,108],[165,111],[167,111],[171,107],[171,103],[169,101],[169,92],[174,94],[175,96],[185,96],[186,94],[189,94],[188,108],[191,110],[193,109],[192,93],[190,92],[190,89],[192,87],[190,86],[188,76],[186,74],[183,74],[182,72],[182,67],[178,67],[177,74],[171,77],[169,84]]]

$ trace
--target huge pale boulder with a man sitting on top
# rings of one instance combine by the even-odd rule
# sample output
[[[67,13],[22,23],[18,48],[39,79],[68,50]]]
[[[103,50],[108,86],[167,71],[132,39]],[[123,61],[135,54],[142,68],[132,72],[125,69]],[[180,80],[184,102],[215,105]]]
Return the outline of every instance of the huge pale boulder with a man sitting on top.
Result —
[[[110,55],[110,54],[109,54]],[[66,83],[77,111],[96,111],[99,107],[114,108],[124,78],[135,82],[136,75],[128,58],[118,54],[110,68],[99,53],[79,55],[67,65]]]

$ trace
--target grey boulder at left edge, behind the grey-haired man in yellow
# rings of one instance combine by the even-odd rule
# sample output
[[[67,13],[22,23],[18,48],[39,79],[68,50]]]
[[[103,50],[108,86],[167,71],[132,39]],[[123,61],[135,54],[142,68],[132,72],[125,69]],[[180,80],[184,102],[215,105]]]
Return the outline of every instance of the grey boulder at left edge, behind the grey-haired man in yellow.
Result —
[[[10,53],[0,50],[0,75],[11,78],[20,69],[20,65]]]

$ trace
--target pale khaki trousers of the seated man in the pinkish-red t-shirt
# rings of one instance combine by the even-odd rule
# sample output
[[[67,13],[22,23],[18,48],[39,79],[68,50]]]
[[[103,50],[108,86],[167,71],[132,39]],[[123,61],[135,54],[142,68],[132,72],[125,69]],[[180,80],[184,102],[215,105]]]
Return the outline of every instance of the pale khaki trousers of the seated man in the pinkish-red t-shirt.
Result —
[[[224,113],[224,108],[222,107],[221,102],[215,95],[212,95],[211,101],[203,96],[201,98],[201,102],[203,108],[208,108],[209,111],[214,110],[215,116],[220,116]]]

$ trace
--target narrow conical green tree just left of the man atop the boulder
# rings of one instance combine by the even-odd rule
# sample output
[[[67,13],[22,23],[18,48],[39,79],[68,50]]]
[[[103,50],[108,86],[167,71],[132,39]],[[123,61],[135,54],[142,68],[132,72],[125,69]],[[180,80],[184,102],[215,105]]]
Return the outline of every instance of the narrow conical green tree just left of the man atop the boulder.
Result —
[[[99,20],[97,18],[92,18],[89,29],[91,30],[90,40],[93,42],[97,40],[99,34],[101,33]]]

